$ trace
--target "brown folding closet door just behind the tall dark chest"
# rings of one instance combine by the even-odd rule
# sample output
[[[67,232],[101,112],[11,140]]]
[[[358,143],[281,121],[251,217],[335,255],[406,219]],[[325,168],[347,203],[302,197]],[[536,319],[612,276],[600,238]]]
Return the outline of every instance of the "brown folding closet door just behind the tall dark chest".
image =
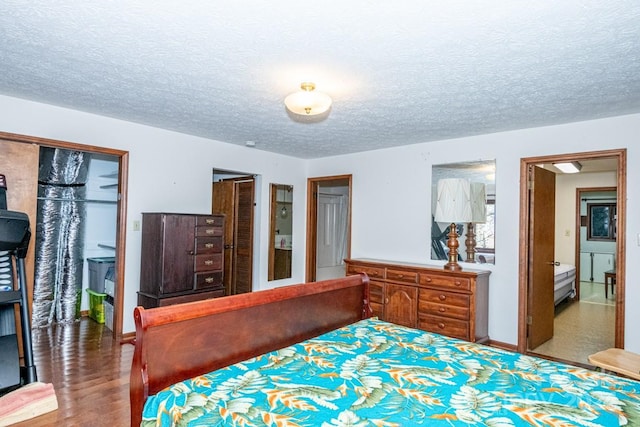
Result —
[[[254,188],[253,177],[213,183],[212,212],[225,215],[225,295],[252,290]]]

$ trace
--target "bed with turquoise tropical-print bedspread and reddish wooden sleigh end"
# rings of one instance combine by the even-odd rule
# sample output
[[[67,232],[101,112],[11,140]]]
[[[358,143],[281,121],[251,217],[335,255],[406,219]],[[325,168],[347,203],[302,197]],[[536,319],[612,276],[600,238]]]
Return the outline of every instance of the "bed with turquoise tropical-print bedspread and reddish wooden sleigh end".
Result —
[[[364,275],[135,319],[132,425],[640,423],[640,383],[373,318]]]

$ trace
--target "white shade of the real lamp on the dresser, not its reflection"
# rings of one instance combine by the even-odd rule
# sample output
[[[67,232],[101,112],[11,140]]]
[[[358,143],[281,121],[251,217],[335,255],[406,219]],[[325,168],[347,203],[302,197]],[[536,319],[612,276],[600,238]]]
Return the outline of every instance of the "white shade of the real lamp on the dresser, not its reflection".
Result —
[[[436,222],[471,222],[471,182],[460,178],[445,178],[438,181]]]

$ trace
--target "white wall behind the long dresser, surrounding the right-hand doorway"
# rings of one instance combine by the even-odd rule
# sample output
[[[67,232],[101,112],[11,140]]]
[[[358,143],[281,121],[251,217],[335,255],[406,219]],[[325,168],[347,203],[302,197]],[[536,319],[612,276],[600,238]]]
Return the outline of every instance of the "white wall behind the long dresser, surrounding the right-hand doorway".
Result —
[[[316,159],[309,176],[353,174],[354,258],[433,263],[430,254],[431,166],[496,159],[496,264],[489,295],[489,334],[516,344],[520,230],[520,159],[542,155],[627,148],[626,347],[640,352],[640,115],[525,129]],[[455,156],[455,157],[454,157]],[[571,198],[575,200],[575,196]]]

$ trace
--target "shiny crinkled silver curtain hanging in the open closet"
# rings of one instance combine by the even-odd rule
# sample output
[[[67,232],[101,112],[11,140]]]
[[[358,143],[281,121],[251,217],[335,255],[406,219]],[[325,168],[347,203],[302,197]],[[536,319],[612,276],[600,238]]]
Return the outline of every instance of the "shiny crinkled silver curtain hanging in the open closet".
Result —
[[[33,327],[80,316],[89,160],[80,151],[40,150]]]

